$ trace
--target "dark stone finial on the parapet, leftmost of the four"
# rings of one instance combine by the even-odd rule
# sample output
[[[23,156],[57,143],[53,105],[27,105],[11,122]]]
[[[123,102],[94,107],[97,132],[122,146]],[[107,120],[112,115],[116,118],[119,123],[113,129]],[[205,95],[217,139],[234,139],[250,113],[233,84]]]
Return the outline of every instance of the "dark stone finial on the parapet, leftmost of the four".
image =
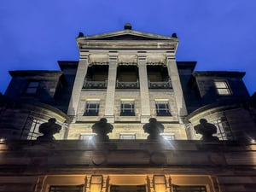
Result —
[[[61,125],[55,123],[55,118],[50,118],[47,123],[41,124],[39,126],[39,132],[44,134],[37,138],[38,141],[53,141],[55,137],[53,135],[61,131]]]

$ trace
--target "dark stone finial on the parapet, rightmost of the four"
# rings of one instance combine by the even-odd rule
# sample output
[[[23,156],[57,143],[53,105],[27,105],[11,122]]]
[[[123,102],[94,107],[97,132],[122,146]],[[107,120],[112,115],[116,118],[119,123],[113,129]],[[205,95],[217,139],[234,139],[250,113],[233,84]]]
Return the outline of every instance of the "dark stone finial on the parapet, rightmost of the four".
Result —
[[[204,142],[218,142],[218,137],[213,137],[212,134],[217,133],[217,127],[207,122],[207,119],[200,119],[200,124],[195,125],[196,133],[202,135],[201,140]]]

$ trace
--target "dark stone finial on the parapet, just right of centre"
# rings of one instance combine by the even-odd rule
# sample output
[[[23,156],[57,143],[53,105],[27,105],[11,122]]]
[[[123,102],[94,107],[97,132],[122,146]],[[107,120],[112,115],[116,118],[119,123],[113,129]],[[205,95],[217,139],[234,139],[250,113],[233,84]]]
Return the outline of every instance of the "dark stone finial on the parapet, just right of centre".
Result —
[[[155,118],[150,118],[149,123],[143,125],[144,132],[149,134],[148,141],[161,141],[163,137],[160,136],[160,133],[164,132],[164,129],[164,125],[157,122]]]

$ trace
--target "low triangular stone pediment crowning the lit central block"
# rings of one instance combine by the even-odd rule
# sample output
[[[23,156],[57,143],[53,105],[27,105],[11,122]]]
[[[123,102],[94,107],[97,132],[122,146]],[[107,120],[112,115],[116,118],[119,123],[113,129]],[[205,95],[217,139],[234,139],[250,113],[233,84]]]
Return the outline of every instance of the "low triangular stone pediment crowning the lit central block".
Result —
[[[79,37],[84,40],[173,40],[177,38],[168,36],[156,35],[148,32],[138,32],[134,30],[122,30],[117,32],[106,32],[97,35]]]

